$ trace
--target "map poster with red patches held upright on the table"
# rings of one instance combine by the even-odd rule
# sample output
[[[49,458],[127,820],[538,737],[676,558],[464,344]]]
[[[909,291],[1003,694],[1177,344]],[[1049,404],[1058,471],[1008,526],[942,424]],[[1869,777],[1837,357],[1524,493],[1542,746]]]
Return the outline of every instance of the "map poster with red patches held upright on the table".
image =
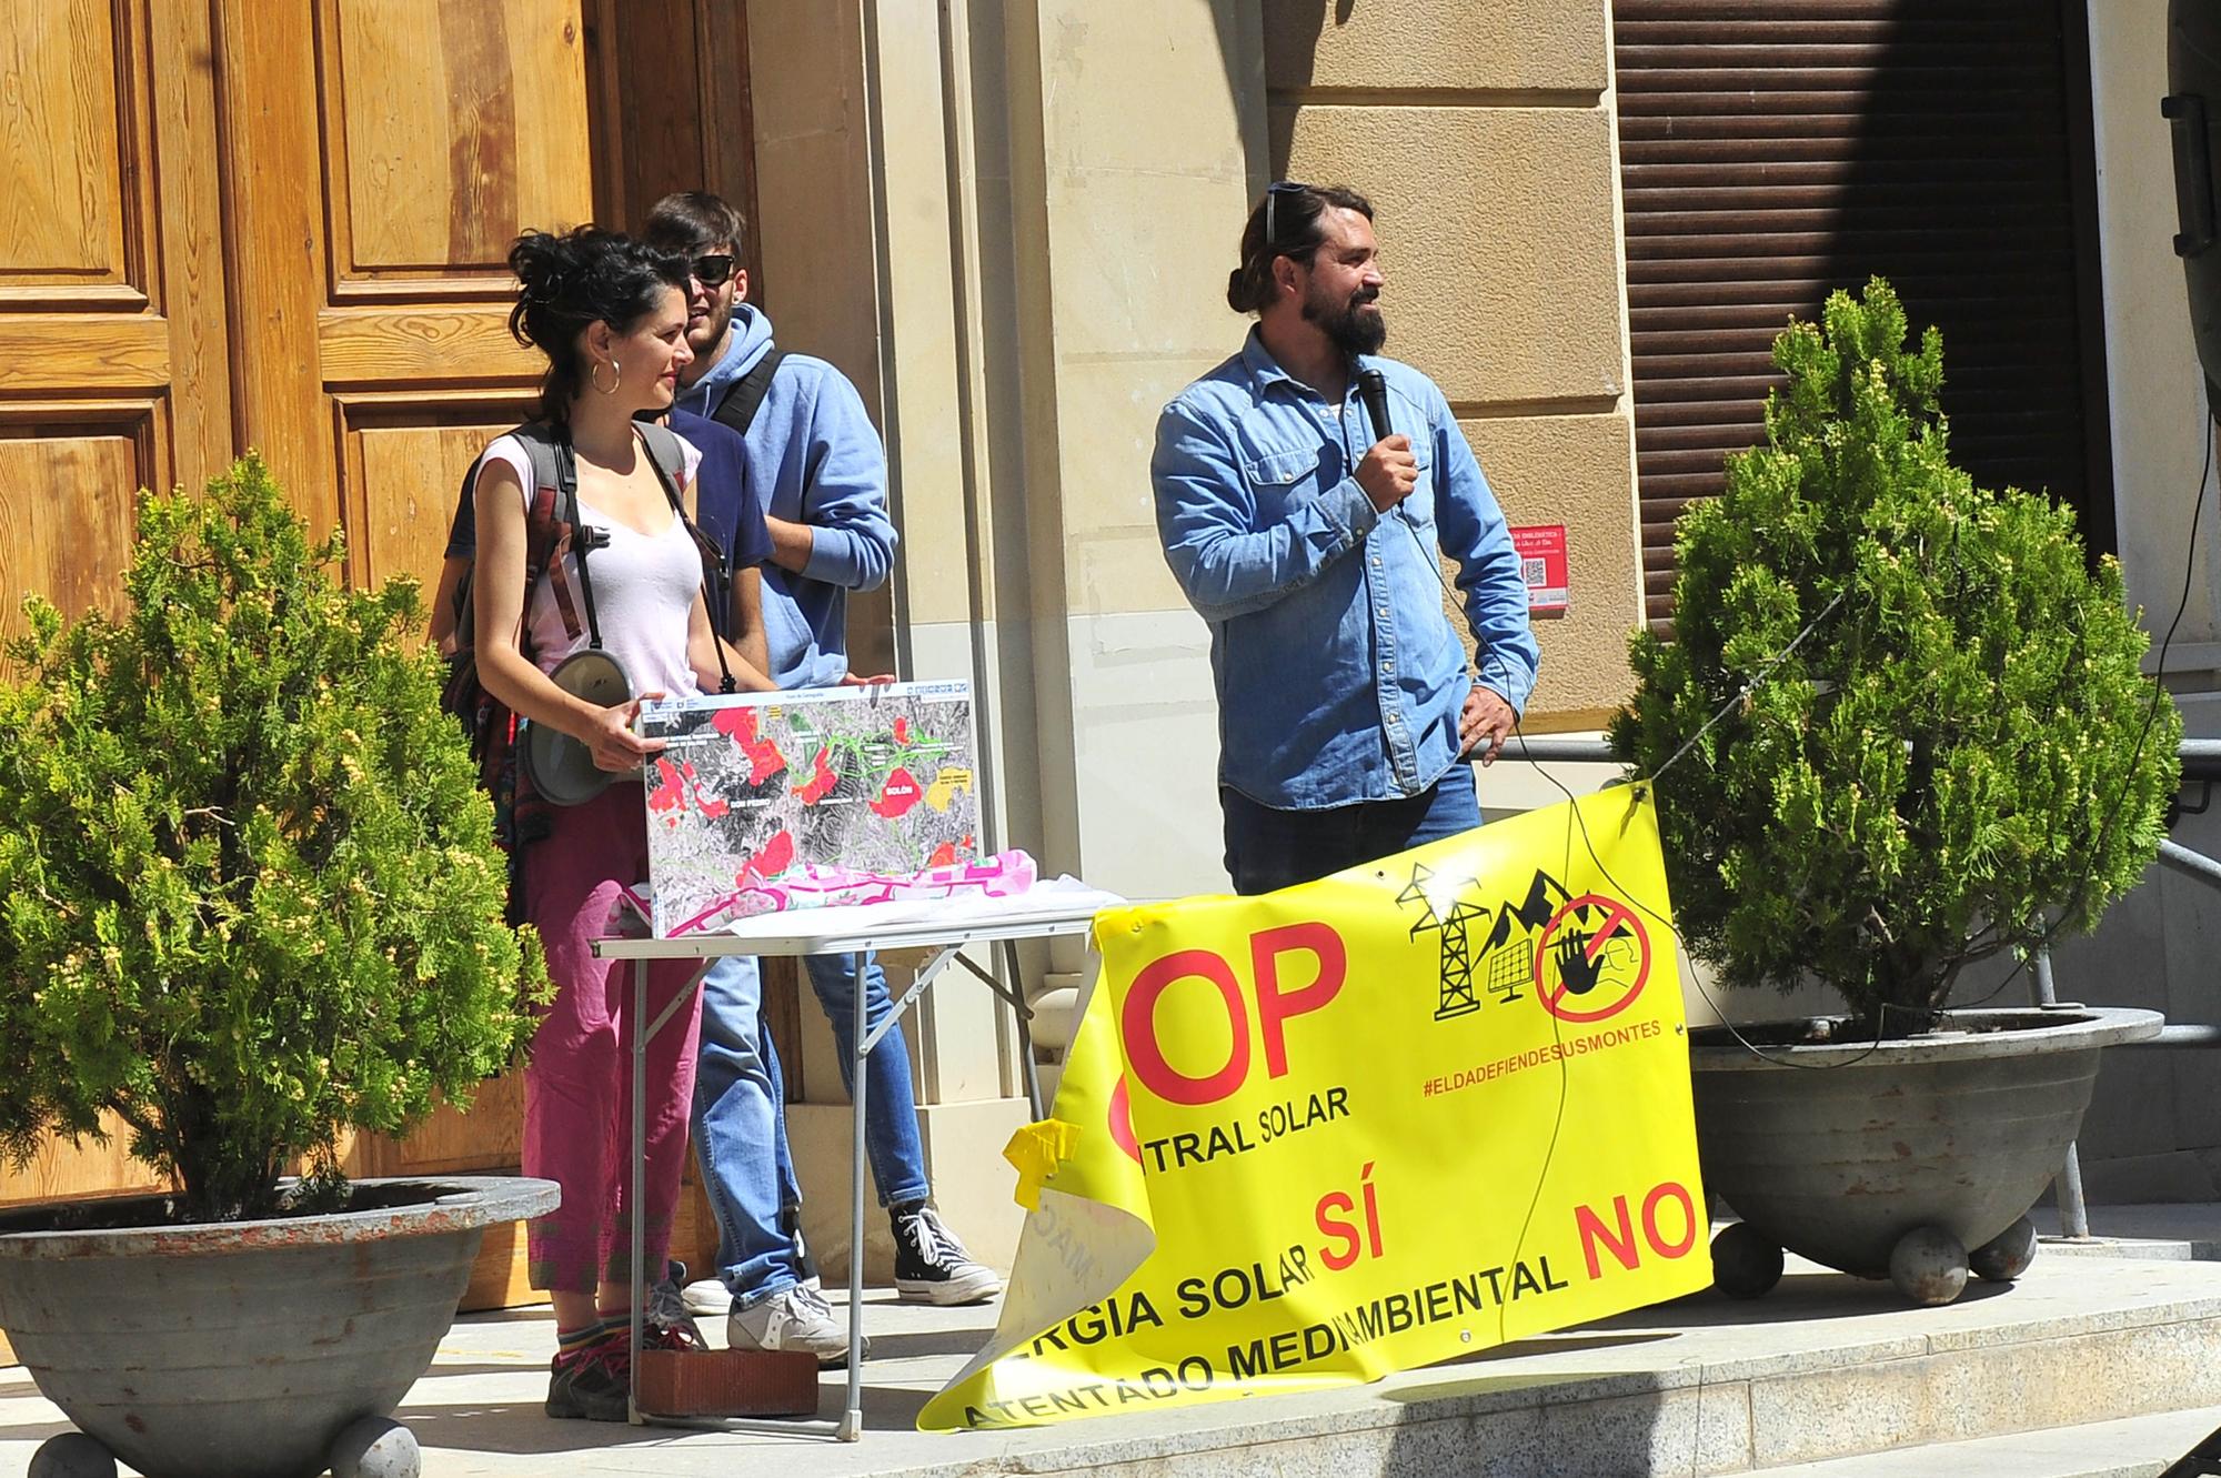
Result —
[[[971,684],[744,692],[640,708],[655,934],[868,901],[977,852]]]

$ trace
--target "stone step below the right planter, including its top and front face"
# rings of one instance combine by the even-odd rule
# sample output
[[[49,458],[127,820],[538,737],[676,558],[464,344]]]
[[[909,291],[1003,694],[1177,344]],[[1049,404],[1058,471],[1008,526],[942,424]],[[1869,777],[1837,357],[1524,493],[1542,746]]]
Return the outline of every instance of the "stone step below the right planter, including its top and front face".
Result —
[[[1846,1474],[1906,1474],[1946,1445],[2012,1451],[2048,1429],[2154,1418],[2143,1467],[2123,1467],[2128,1449],[2083,1467],[2157,1474],[2165,1462],[2145,1454],[2179,1456],[2221,1425],[2212,1407],[2217,1265],[2039,1256],[2014,1287],[1912,1309],[1888,1283],[1792,1261],[1755,1303],[1704,1294],[1375,1387],[966,1440],[962,1462],[886,1471],[959,1478],[986,1447],[993,1471],[1071,1478],[1162,1478],[1175,1462],[1182,1478],[1704,1478],[1848,1460],[1868,1467]]]

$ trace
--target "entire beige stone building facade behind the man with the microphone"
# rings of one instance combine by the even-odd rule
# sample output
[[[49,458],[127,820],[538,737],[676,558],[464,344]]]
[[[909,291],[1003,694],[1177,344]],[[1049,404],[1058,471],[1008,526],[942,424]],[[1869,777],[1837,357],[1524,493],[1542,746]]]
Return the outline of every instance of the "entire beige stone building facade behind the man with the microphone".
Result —
[[[2163,11],[2092,24],[2119,539],[2148,606],[2172,606],[2199,470]],[[1148,451],[1159,406],[1246,333],[1222,291],[1275,178],[1375,200],[1388,351],[1441,384],[1515,524],[1568,528],[1572,610],[1539,624],[1526,726],[1595,730],[1626,697],[1641,570],[1608,0],[755,0],[751,44],[764,295],[784,344],[866,388],[893,451],[902,566],[862,619],[902,670],[973,679],[997,841],[1130,897],[1224,885],[1206,630],[1157,553]],[[2217,686],[2214,610],[2201,564],[2183,688]],[[1504,766],[1481,797],[1557,790]],[[2123,910],[2121,930],[2130,912],[2150,923]],[[2110,948],[2165,979],[2157,945]],[[1028,954],[1051,1034],[1084,968]],[[1004,1256],[993,1156],[1024,1103],[988,1005],[928,996],[913,1052],[942,1198]],[[797,1158],[837,1254],[846,1110],[813,1054],[826,1103],[800,1110]]]

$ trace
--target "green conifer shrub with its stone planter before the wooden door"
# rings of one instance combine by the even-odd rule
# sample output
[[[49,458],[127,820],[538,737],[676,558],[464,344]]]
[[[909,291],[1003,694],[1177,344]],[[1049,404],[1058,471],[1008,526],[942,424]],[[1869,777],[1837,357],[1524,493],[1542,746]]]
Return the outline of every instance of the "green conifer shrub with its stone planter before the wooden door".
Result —
[[[127,610],[27,599],[0,670],[0,1150],[113,1116],[175,1185],[0,1216],[0,1329],[82,1429],[53,1471],[413,1474],[380,1418],[484,1225],[555,1203],[340,1174],[506,1067],[546,981],[415,586],[340,557],[249,455],[142,493]]]

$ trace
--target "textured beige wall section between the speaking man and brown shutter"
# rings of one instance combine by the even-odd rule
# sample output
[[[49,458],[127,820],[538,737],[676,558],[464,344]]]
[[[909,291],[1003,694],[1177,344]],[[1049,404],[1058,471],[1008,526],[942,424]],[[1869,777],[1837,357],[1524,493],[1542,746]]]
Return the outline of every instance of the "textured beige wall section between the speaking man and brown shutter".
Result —
[[[1262,20],[1273,173],[1373,198],[1388,353],[1441,386],[1513,524],[1566,526],[1528,728],[1595,728],[1641,588],[1606,0]]]

